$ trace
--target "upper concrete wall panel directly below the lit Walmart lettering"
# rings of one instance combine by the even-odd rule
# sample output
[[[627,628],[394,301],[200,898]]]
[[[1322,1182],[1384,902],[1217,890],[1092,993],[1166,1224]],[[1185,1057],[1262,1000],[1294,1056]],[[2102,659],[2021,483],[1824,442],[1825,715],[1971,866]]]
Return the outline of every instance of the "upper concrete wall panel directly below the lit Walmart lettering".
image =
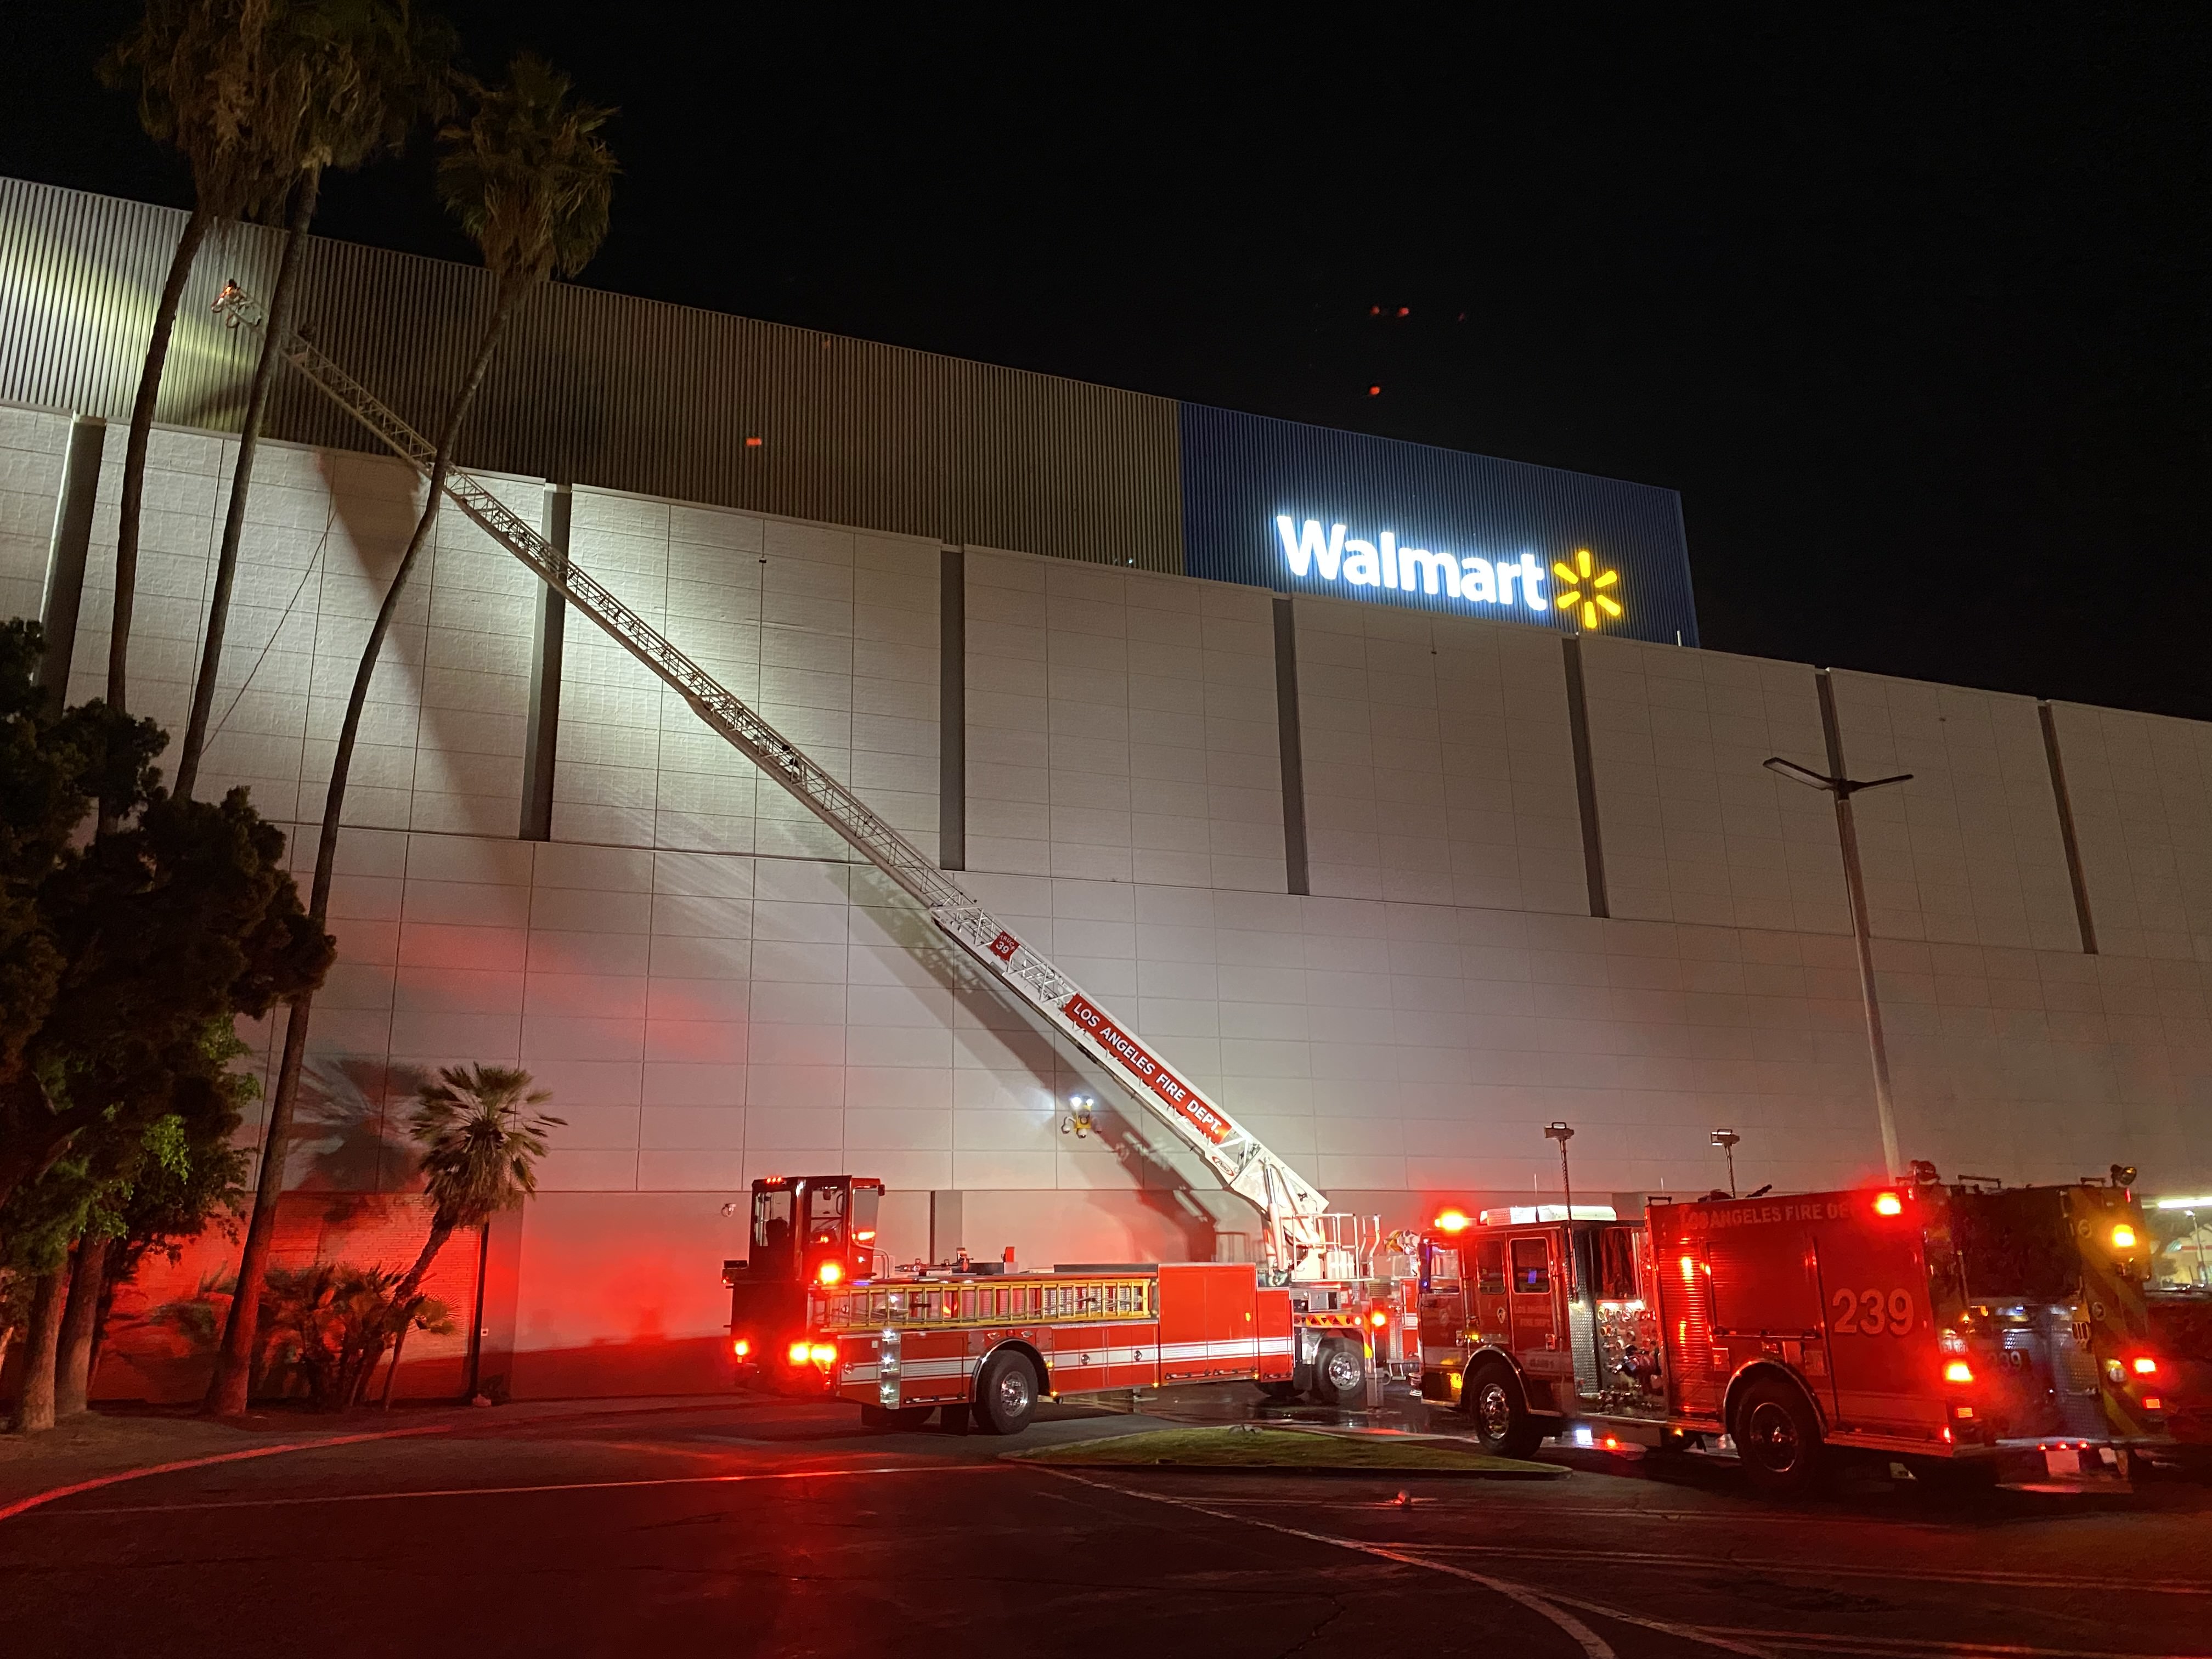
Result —
[[[1588,914],[1559,639],[1296,602],[1312,889]]]

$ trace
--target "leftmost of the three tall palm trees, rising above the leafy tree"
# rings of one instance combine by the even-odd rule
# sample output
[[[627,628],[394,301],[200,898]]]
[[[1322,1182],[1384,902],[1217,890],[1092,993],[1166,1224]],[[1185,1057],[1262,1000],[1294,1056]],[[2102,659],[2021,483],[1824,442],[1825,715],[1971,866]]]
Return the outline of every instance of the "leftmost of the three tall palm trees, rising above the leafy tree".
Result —
[[[146,135],[184,153],[192,168],[192,215],[168,261],[153,314],[153,338],[131,405],[124,447],[122,522],[115,533],[115,615],[108,624],[108,703],[126,706],[131,608],[137,595],[139,509],[146,445],[168,365],[184,283],[208,230],[226,219],[274,210],[290,175],[270,166],[268,133],[299,104],[299,80],[272,73],[272,11],[283,0],[146,0],[139,27],[102,60],[111,86],[137,91]]]

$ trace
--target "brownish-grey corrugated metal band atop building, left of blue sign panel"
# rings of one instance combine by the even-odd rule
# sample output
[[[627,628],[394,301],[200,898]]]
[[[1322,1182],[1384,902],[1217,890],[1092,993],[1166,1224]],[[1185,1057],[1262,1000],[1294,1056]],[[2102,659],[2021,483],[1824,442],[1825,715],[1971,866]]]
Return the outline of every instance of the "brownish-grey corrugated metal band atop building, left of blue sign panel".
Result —
[[[181,226],[170,208],[0,179],[0,398],[126,418]],[[232,228],[201,252],[161,420],[237,427],[254,341],[206,305],[223,276],[265,292],[276,241]],[[489,307],[473,265],[316,239],[301,321],[431,431]],[[274,436],[372,447],[314,392],[281,385]],[[515,319],[460,453],[644,495],[1183,568],[1168,398],[575,285]]]

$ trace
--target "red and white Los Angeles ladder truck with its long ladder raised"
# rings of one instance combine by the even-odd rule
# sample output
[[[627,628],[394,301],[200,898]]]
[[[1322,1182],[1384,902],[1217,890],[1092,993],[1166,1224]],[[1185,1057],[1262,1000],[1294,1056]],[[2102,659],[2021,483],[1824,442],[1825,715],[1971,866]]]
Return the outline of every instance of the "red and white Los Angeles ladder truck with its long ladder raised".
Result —
[[[215,310],[230,327],[265,325],[261,305],[237,283],[223,283]],[[394,456],[414,467],[422,478],[434,476],[436,445],[400,420],[398,414],[385,407],[316,345],[296,330],[283,330],[276,336],[276,349],[292,369],[367,427]],[[1199,1272],[1199,1265],[1190,1265],[1188,1270],[1172,1265],[1130,1270],[1135,1279],[1150,1274],[1146,1281],[1150,1290],[1141,1290],[1141,1294],[1130,1287],[1135,1283],[1130,1281],[1093,1287],[1095,1296],[1093,1290],[1086,1290],[1073,1298],[1062,1296],[1055,1301],[1048,1294],[1053,1287],[1037,1283],[1035,1296],[1024,1292],[1024,1296],[1009,1301],[1006,1292],[1013,1281],[1004,1281],[991,1285],[991,1310],[975,1314],[973,1285],[964,1285],[967,1303],[962,1303],[960,1294],[953,1294],[951,1303],[956,1312],[947,1316],[945,1296],[933,1285],[922,1283],[931,1281],[933,1274],[922,1272],[914,1276],[916,1290],[898,1292],[900,1312],[911,1312],[909,1305],[920,1305],[929,1310],[927,1321],[933,1323],[933,1329],[949,1332],[958,1327],[964,1332],[960,1345],[975,1352],[956,1356],[956,1380],[967,1387],[967,1394],[978,1405],[982,1400],[980,1378],[989,1378],[1006,1398],[1020,1394],[1020,1387],[1006,1380],[1009,1369],[1018,1371],[1020,1367],[1011,1365],[1011,1360],[993,1365],[993,1352],[1002,1345],[1009,1347],[1009,1354],[1015,1345],[1022,1347],[1022,1365],[1031,1371],[1026,1380],[1031,1402],[1046,1394],[1077,1391],[1073,1387],[1077,1383],[1088,1391],[1091,1387],[1121,1389],[1228,1378],[1234,1367],[1223,1369],[1217,1365],[1221,1356],[1206,1356],[1208,1365],[1203,1369],[1161,1358],[1157,1329],[1179,1329],[1179,1321],[1188,1323],[1188,1307],[1210,1305],[1206,1292],[1197,1294],[1197,1303],[1190,1303],[1188,1294],[1179,1296],[1186,1279],[1190,1285],[1199,1285],[1201,1281],[1212,1283],[1214,1279],[1223,1279],[1223,1274],[1234,1279],[1239,1272],[1254,1281],[1250,1294],[1256,1301],[1243,1303],[1234,1296],[1221,1301],[1221,1318],[1228,1318],[1237,1329],[1212,1334],[1212,1327],[1221,1318],[1214,1314],[1192,1314],[1190,1318],[1197,1318],[1192,1329],[1203,1327],[1203,1334],[1181,1340],[1170,1338],[1170,1349],[1188,1347],[1188,1343],[1199,1343],[1201,1347],[1228,1345],[1237,1358],[1250,1360],[1241,1371],[1248,1380],[1259,1380],[1276,1391],[1307,1387],[1343,1405],[1352,1405],[1354,1396],[1367,1389],[1378,1349],[1394,1356],[1402,1349],[1418,1363],[1418,1340],[1409,1340],[1407,1332],[1411,1292],[1405,1285],[1409,1285],[1409,1279],[1389,1272],[1396,1263],[1391,1263],[1385,1250],[1389,1241],[1380,1239],[1376,1228],[1363,1225],[1356,1217],[1334,1214],[1323,1192],[1239,1124],[1228,1108],[1208,1097],[1188,1075],[1170,1066],[1155,1044],[1146,1042],[1128,1022],[1119,1020],[1104,1002],[1084,991],[1073,975],[1035,949],[1035,945],[991,916],[982,902],[971,898],[936,860],[869,810],[845,783],[814,763],[611,588],[580,568],[564,549],[553,546],[524,518],[500,502],[482,482],[458,467],[449,467],[442,487],[453,504],[491,535],[493,542],[520,560],[531,575],[560,593],[562,599],[575,606],[617,646],[668,684],[710,730],[781,783],[807,812],[836,832],[845,845],[914,898],[938,931],[951,938],[962,956],[982,969],[987,982],[1000,987],[1018,1006],[1073,1042],[1133,1102],[1146,1108],[1175,1141],[1194,1152],[1223,1190],[1234,1192],[1259,1212],[1259,1263],[1241,1270],[1206,1265],[1206,1272]],[[790,1307],[790,1279],[812,1270],[812,1281],[803,1281],[805,1312],[796,1325],[779,1323],[765,1336],[748,1338],[741,1332],[732,1332],[732,1345],[745,1343],[750,1347],[750,1354],[739,1352],[739,1358],[770,1367],[783,1365],[799,1374],[812,1371],[825,1387],[852,1394],[854,1398],[865,1394],[872,1416],[878,1411],[905,1411],[911,1416],[920,1400],[949,1409],[967,1405],[964,1398],[953,1398],[958,1389],[949,1385],[936,1389],[922,1387],[920,1376],[909,1385],[896,1358],[887,1376],[880,1356],[858,1358],[860,1347],[867,1347],[867,1343],[880,1345],[880,1338],[860,1338],[858,1334],[834,1336],[836,1327],[849,1323],[847,1316],[854,1314],[852,1301],[863,1292],[863,1281],[878,1283],[872,1274],[880,1252],[872,1250],[869,1239],[856,1237],[858,1232],[872,1232],[872,1228],[856,1228],[852,1214],[858,1208],[854,1203],[854,1188],[860,1188],[863,1194],[869,1190],[880,1192],[880,1183],[856,1181],[854,1177],[805,1179],[823,1194],[836,1190],[836,1183],[845,1183],[845,1199],[836,1208],[836,1219],[823,1228],[823,1237],[816,1241],[825,1250],[816,1248],[810,1252],[794,1248],[774,1252],[774,1283],[783,1290],[765,1298],[754,1294],[754,1301]],[[757,1181],[752,1194],[757,1234],[761,1230],[763,1192],[770,1192],[770,1188]],[[772,1199],[768,1208],[774,1208]],[[763,1261],[763,1265],[770,1263]],[[732,1283],[737,1301],[743,1303],[745,1281],[752,1279],[750,1272],[730,1265],[723,1276]],[[1044,1281],[1051,1274],[1026,1279]],[[752,1279],[754,1287],[761,1283],[761,1279]],[[1279,1292],[1287,1301],[1292,1329],[1281,1336],[1281,1343],[1292,1349],[1287,1365],[1274,1365],[1272,1358],[1263,1360],[1259,1345],[1254,1345],[1254,1327],[1263,1318],[1274,1316],[1274,1296],[1259,1296],[1259,1292]],[[1212,1301],[1225,1294],[1217,1285]],[[1119,1343],[1121,1352],[1133,1352],[1139,1358],[1124,1358],[1119,1367],[1062,1365],[1057,1360],[1055,1323],[1075,1318],[1077,1314],[1071,1310],[1077,1310],[1077,1305],[1086,1310],[1093,1298],[1104,1298],[1102,1305],[1113,1303],[1119,1307],[1113,1321],[1119,1321],[1115,1329],[1121,1336],[1130,1332],[1139,1332],[1141,1336],[1141,1332],[1155,1329],[1152,1338]],[[1026,1314],[1026,1318],[1015,1318],[1011,1312],[1006,1318],[1000,1318],[1002,1303],[1006,1310]],[[887,1303],[883,1307],[876,1307],[876,1303],[863,1305],[876,1314],[889,1314]],[[958,1312],[962,1305],[969,1307],[967,1314]],[[1062,1305],[1062,1314],[1046,1312]],[[1015,1336],[1018,1332],[1026,1334]],[[1088,1327],[1079,1329],[1075,1340],[1088,1340],[1086,1332]],[[1097,1349],[1104,1358],[1108,1347],[1108,1343],[1095,1340],[1091,1347],[1075,1347],[1073,1354],[1091,1358],[1091,1352]],[[1146,1354],[1152,1358],[1144,1358]],[[942,1358],[933,1363],[942,1363]],[[1099,1376],[1115,1380],[1097,1383],[1095,1378]],[[1060,1387],[1062,1380],[1071,1383],[1071,1387]],[[1009,1411],[980,1409],[978,1416],[987,1427],[993,1420],[1000,1427],[1013,1418],[1026,1422],[1026,1409],[1011,1416]]]

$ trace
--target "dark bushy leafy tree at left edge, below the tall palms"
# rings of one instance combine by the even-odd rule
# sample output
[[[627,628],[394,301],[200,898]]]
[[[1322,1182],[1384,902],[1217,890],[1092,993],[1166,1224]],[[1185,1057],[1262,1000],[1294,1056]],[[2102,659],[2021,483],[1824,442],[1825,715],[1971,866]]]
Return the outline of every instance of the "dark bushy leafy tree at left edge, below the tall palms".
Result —
[[[332,940],[243,790],[170,799],[161,730],[100,701],[49,712],[40,655],[35,624],[0,624],[0,1261],[58,1279],[86,1228],[117,1234],[157,1121],[223,1088],[210,1031],[319,984]],[[93,801],[115,827],[80,843]],[[150,1146],[159,1157],[159,1133]],[[27,1400],[42,1409],[58,1296],[42,1285],[31,1332]]]

